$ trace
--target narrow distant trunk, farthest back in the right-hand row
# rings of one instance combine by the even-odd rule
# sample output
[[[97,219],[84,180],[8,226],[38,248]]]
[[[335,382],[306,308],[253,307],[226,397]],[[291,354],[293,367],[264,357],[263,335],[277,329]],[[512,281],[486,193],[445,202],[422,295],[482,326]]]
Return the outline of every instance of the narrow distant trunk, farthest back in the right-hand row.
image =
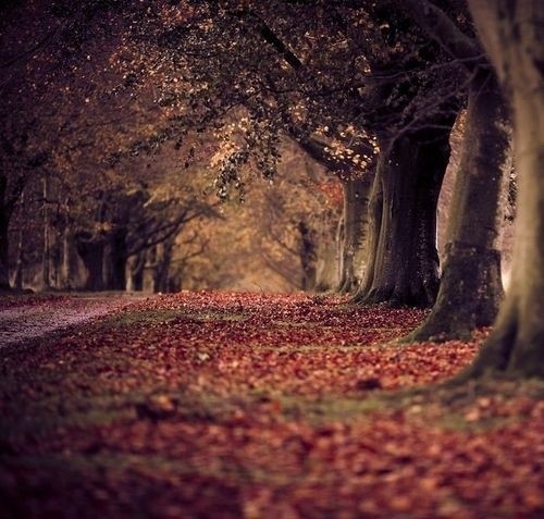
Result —
[[[368,249],[368,206],[373,175],[349,178],[343,183],[344,233],[341,247],[338,292],[348,294],[361,283]]]

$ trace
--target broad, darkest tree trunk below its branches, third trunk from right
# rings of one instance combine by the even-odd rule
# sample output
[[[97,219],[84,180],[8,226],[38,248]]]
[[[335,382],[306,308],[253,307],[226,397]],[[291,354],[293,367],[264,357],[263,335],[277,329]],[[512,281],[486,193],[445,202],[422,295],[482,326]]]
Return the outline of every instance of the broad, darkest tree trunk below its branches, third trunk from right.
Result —
[[[371,197],[371,249],[357,302],[434,304],[436,205],[449,159],[448,136],[449,131],[441,128],[382,139],[375,181],[381,186],[374,185]]]

